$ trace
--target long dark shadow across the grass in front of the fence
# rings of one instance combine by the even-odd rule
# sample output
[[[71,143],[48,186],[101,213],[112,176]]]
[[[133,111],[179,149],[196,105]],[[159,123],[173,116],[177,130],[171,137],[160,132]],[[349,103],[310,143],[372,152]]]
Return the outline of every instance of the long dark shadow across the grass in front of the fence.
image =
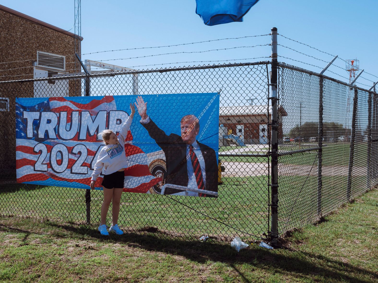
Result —
[[[250,280],[240,270],[240,264],[246,263],[255,269],[265,269],[274,274],[296,276],[297,278],[319,277],[335,281],[352,281],[357,283],[368,283],[371,280],[364,280],[361,275],[378,279],[378,275],[363,268],[359,268],[349,263],[334,260],[324,255],[314,254],[305,251],[294,251],[291,249],[268,250],[260,248],[256,244],[251,244],[249,248],[237,253],[227,243],[210,239],[207,242],[198,240],[187,240],[178,237],[168,237],[156,229],[141,229],[147,234],[141,235],[136,232],[127,232],[124,235],[110,234],[104,237],[97,229],[91,226],[61,225],[46,221],[45,225],[51,228],[58,228],[60,231],[70,233],[70,238],[85,240],[98,240],[104,243],[122,243],[125,246],[137,247],[151,252],[164,252],[172,255],[180,255],[198,263],[206,263],[208,260],[227,263],[243,278],[245,282]],[[27,230],[16,229],[6,225],[0,225],[2,231],[17,231],[31,233]],[[56,231],[58,234],[62,232]],[[38,234],[38,233],[36,233]],[[40,233],[45,234],[45,233]],[[54,231],[50,235],[57,235]],[[62,237],[62,235],[57,235]],[[66,235],[67,237],[67,235]],[[294,274],[294,275],[293,275]],[[295,275],[296,274],[296,275]]]

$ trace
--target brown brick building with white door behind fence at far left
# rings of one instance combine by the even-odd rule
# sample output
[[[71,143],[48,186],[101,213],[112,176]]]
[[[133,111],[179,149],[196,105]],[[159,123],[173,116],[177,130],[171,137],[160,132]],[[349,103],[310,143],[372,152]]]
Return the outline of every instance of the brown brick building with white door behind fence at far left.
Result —
[[[82,37],[2,5],[0,30],[0,70],[6,70],[0,71],[0,81],[80,72],[73,62],[75,39],[80,55]],[[15,97],[53,96],[48,89],[55,83],[63,84],[64,96],[81,95],[79,81],[0,83],[0,136],[6,141],[0,143],[0,172],[15,174]]]

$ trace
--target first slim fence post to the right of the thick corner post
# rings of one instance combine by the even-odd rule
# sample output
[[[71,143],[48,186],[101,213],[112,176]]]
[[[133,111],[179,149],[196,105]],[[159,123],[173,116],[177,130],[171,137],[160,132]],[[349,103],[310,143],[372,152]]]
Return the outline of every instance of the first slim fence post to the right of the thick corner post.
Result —
[[[319,126],[318,126],[318,216],[322,216],[322,154],[323,154],[323,76],[319,77]]]

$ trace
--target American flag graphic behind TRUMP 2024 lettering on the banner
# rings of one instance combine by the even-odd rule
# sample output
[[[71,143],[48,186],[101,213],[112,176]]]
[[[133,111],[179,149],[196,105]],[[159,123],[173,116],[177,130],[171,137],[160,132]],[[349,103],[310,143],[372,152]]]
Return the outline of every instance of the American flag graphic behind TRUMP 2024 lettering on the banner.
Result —
[[[16,98],[17,182],[88,189],[102,146],[102,140],[97,140],[101,127],[91,132],[82,125],[94,123],[102,113],[106,118],[101,123],[108,128],[109,113],[116,110],[128,111],[117,109],[112,96]],[[129,131],[124,191],[146,193],[161,178],[150,174],[146,153],[132,141]],[[100,176],[97,189],[102,188],[101,182]]]

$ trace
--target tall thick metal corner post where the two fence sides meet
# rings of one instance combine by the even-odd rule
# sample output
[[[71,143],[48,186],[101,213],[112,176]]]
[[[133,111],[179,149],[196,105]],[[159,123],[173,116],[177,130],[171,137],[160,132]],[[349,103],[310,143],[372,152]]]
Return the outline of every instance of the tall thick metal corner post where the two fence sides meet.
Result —
[[[271,231],[270,239],[272,245],[278,243],[278,94],[277,94],[277,28],[271,29],[272,36],[272,74],[270,78],[272,90],[272,151],[271,151]]]

